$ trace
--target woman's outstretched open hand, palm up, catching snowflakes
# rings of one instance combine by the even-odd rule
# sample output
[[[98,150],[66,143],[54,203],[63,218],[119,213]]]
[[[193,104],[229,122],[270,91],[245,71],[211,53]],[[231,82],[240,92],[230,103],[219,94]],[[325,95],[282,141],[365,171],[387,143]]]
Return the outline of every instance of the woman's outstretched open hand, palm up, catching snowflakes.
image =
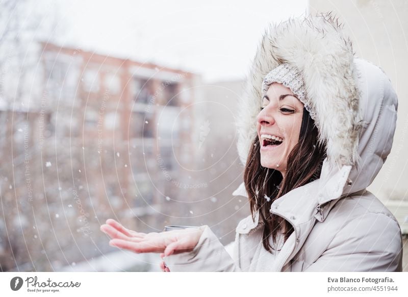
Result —
[[[114,219],[108,219],[100,230],[112,238],[109,241],[111,246],[137,254],[163,253],[164,256],[192,251],[202,234],[199,228],[140,233],[124,228]]]

